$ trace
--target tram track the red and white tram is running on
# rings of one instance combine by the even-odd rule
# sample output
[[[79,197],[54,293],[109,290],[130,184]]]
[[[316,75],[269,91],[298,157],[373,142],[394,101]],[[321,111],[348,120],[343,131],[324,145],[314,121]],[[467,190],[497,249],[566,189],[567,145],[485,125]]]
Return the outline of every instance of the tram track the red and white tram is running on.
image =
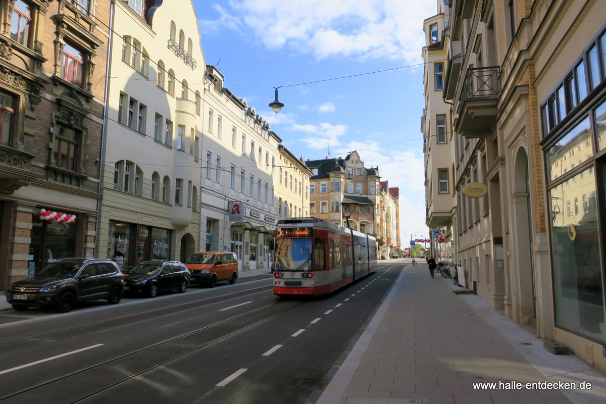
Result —
[[[109,383],[108,385],[103,386],[102,388],[97,388],[93,391],[87,391],[86,394],[81,394],[79,397],[71,398],[69,401],[70,404],[83,403],[88,399],[99,396],[99,394],[103,394],[104,392],[111,391],[112,389],[117,388],[118,386],[121,386],[124,383],[127,383],[133,379],[137,379],[139,377],[144,377],[145,374],[150,373],[150,372],[154,371],[155,369],[161,368],[162,366],[170,365],[170,363],[176,362],[188,355],[198,353],[199,351],[202,351],[203,349],[208,349],[211,346],[213,346],[219,342],[222,342],[225,339],[230,338],[231,336],[235,336],[239,333],[242,333],[243,331],[246,331],[247,329],[261,325],[262,323],[267,322],[268,320],[273,319],[274,317],[281,316],[282,314],[287,313],[290,310],[294,310],[298,306],[304,305],[306,303],[305,301],[296,302],[296,301],[290,300],[290,301],[288,301],[289,304],[285,308],[285,310],[279,310],[276,313],[270,313],[268,315],[261,316],[261,318],[256,319],[253,322],[239,326],[236,329],[231,329],[230,331],[221,334],[221,336],[210,339],[204,343],[199,344],[198,346],[191,346],[190,344],[178,344],[179,340],[185,339],[187,337],[195,336],[196,334],[199,334],[199,333],[202,333],[205,331],[209,331],[213,328],[218,328],[219,326],[222,326],[222,325],[229,325],[229,323],[235,322],[235,320],[244,319],[245,317],[251,317],[251,315],[253,315],[253,314],[258,314],[258,313],[261,313],[262,311],[266,311],[270,308],[273,308],[273,307],[279,305],[282,302],[283,302],[283,300],[277,300],[275,302],[271,302],[270,304],[255,308],[253,310],[248,310],[248,311],[245,311],[244,313],[237,314],[235,316],[230,316],[227,319],[220,320],[218,322],[214,322],[209,325],[198,327],[196,329],[187,331],[186,333],[180,333],[176,336],[173,336],[173,337],[170,337],[167,339],[163,339],[163,340],[160,340],[155,343],[151,343],[147,346],[143,346],[139,349],[135,349],[135,350],[129,351],[124,354],[119,354],[118,356],[113,357],[111,359],[103,360],[102,362],[95,363],[93,365],[86,366],[84,368],[75,369],[66,374],[62,374],[61,376],[56,376],[51,379],[45,380],[44,382],[28,386],[27,388],[22,388],[22,389],[19,389],[18,391],[10,392],[8,394],[0,396],[0,402],[7,402],[7,400],[8,400],[8,402],[11,402],[10,399],[12,399],[12,398],[17,399],[17,401],[15,401],[15,402],[23,402],[22,401],[23,397],[20,397],[21,394],[27,394],[30,392],[34,392],[38,389],[52,386],[54,383],[64,382],[64,383],[67,383],[68,385],[70,385],[73,383],[73,382],[70,382],[70,380],[69,380],[72,377],[76,377],[76,376],[82,377],[83,374],[85,374],[85,373],[92,373],[92,374],[99,373],[102,371],[102,369],[108,368],[112,365],[115,365],[116,367],[118,367],[119,362],[121,362],[121,361],[128,362],[129,359],[132,359],[133,357],[138,356],[139,354],[145,354],[147,351],[151,351],[154,348],[158,348],[161,346],[168,346],[170,344],[176,344],[176,346],[183,348],[183,351],[179,354],[172,354],[168,359],[161,360],[158,363],[155,363],[153,365],[140,369],[139,371],[136,371],[135,373],[128,374],[128,376],[122,377],[119,380],[113,381],[113,382]]]

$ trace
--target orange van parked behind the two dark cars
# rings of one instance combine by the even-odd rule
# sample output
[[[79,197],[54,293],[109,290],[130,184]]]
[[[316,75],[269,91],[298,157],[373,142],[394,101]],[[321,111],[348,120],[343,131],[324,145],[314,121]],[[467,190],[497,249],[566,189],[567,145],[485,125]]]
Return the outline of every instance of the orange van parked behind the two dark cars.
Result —
[[[234,253],[193,253],[185,260],[185,267],[191,272],[191,283],[204,283],[210,288],[220,280],[233,285],[238,278],[238,258]]]

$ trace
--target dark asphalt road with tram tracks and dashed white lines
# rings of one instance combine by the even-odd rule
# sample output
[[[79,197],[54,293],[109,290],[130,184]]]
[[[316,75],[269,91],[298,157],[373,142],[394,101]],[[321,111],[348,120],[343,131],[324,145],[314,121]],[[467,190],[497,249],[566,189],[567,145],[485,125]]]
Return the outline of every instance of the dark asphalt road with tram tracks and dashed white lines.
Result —
[[[0,403],[314,403],[402,265],[321,298],[267,275],[66,314],[0,312]]]

